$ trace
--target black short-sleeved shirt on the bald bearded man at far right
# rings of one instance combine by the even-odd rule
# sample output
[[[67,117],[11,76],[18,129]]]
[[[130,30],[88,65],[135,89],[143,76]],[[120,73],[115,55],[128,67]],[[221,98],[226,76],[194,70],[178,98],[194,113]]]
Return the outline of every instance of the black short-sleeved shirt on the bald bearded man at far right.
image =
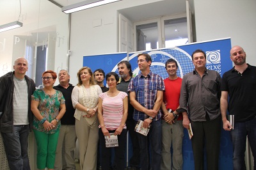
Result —
[[[247,64],[248,65],[248,64]],[[233,67],[222,77],[221,91],[228,91],[228,112],[235,121],[248,121],[256,116],[256,66],[248,65],[243,73]]]

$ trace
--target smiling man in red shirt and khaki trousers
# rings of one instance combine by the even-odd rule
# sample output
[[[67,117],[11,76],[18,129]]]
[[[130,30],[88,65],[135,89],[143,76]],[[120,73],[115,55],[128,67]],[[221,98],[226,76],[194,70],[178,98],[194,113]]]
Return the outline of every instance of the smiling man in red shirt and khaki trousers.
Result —
[[[182,114],[179,114],[179,98],[182,79],[177,76],[178,65],[175,59],[168,59],[165,69],[169,77],[164,79],[164,99],[161,104],[162,122],[162,161],[161,169],[182,169],[182,139],[184,136]],[[171,153],[173,148],[173,155]]]

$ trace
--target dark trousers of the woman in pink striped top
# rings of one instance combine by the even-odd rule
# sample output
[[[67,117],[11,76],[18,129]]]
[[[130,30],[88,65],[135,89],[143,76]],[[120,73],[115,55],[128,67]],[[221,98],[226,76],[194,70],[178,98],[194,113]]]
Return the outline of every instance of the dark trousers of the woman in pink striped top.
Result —
[[[115,130],[109,130],[109,133],[114,133]],[[123,129],[122,133],[118,135],[118,146],[114,147],[115,150],[115,167],[118,170],[125,169],[125,143],[126,143],[127,130]],[[111,161],[111,148],[106,148],[105,137],[101,128],[99,129],[99,139],[101,147],[101,168],[102,170],[109,170]]]

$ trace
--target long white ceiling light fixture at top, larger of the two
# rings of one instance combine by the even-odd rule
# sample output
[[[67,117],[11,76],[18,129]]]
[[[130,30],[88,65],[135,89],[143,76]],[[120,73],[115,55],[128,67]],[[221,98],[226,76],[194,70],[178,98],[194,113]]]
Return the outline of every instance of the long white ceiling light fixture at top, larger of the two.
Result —
[[[102,4],[114,3],[116,1],[121,1],[121,0],[87,0],[87,1],[83,1],[81,3],[70,4],[68,6],[64,6],[63,8],[61,8],[61,10],[64,13],[72,13],[72,12],[78,12],[81,10],[85,10],[88,8],[93,8],[95,6],[100,6]]]

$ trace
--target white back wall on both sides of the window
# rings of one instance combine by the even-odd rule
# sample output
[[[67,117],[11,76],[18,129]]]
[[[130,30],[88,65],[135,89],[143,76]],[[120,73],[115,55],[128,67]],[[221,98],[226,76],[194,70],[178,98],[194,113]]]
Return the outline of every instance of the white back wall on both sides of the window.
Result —
[[[197,42],[230,37],[232,46],[244,47],[247,62],[256,65],[256,58],[253,58],[253,40],[256,40],[256,1],[193,1]],[[118,52],[117,10],[154,2],[157,0],[123,0],[72,13],[70,82],[77,84],[76,73],[83,66],[83,56]],[[93,27],[93,21],[99,20],[102,21],[101,26]]]

